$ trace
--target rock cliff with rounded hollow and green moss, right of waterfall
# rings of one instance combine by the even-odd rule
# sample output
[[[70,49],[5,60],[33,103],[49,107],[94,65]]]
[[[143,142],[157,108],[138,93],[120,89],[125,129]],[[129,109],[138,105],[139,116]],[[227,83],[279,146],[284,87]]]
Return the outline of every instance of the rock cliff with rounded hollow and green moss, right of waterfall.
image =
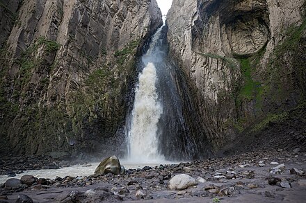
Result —
[[[170,58],[214,150],[305,111],[305,1],[174,0]],[[191,115],[193,116],[193,115]],[[300,127],[303,128],[303,127]]]

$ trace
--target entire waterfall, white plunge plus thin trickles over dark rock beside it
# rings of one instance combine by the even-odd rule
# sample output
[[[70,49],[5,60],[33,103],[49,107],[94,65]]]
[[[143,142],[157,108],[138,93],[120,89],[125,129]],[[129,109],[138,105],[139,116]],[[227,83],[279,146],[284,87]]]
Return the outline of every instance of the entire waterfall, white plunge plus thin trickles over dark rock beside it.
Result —
[[[184,73],[168,59],[166,39],[167,27],[163,26],[138,63],[143,71],[125,126],[129,162],[188,161],[198,156],[198,149],[207,148]]]

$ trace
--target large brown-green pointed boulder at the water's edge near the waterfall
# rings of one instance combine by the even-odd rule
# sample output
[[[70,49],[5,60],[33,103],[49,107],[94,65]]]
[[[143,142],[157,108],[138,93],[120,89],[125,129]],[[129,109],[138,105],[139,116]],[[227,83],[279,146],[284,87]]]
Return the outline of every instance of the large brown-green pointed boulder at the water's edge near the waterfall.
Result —
[[[113,173],[115,175],[123,174],[124,167],[120,165],[118,157],[112,156],[101,161],[95,170],[95,175],[104,175],[106,173]]]

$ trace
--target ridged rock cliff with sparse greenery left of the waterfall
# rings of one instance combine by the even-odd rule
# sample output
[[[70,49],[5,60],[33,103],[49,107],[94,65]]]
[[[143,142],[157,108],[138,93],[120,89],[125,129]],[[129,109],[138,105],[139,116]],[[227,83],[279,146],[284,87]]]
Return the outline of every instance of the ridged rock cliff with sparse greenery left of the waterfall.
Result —
[[[136,52],[162,24],[156,1],[0,1],[0,14],[1,149],[120,148]]]

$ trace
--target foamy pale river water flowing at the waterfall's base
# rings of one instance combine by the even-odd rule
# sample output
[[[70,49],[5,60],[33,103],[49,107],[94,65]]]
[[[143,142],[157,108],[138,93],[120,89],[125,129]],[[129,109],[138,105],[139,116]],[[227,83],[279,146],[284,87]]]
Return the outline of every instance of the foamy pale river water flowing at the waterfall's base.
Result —
[[[159,166],[160,164],[177,164],[173,162],[164,162],[159,164],[133,164],[129,162],[120,161],[120,164],[124,166],[125,169],[130,168],[143,168],[144,166]],[[91,165],[91,166],[89,166]],[[72,177],[84,177],[88,175],[92,175],[95,173],[95,169],[99,163],[90,163],[86,165],[75,165],[70,167],[64,167],[60,169],[42,169],[42,170],[26,170],[24,173],[17,174],[15,177],[8,177],[8,175],[0,175],[0,184],[6,182],[7,179],[10,178],[17,178],[20,179],[22,175],[33,175],[34,177],[40,178],[49,178],[49,179],[55,179],[56,176],[58,177],[66,177],[66,176],[72,176]]]

